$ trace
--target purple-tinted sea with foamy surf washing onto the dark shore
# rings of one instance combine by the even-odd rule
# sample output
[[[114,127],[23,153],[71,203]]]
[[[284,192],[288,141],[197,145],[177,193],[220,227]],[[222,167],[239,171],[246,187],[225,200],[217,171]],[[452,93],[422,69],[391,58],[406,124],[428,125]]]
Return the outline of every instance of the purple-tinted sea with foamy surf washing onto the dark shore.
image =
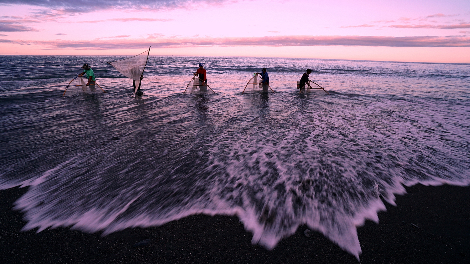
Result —
[[[141,95],[112,56],[0,56],[0,188],[24,229],[109,234],[236,215],[272,249],[356,227],[403,185],[470,183],[470,64],[150,56]],[[203,62],[215,94],[184,94]],[[63,97],[88,63],[107,93]],[[274,93],[245,93],[266,67]],[[323,90],[299,94],[306,68]],[[377,234],[380,235],[380,234]]]

